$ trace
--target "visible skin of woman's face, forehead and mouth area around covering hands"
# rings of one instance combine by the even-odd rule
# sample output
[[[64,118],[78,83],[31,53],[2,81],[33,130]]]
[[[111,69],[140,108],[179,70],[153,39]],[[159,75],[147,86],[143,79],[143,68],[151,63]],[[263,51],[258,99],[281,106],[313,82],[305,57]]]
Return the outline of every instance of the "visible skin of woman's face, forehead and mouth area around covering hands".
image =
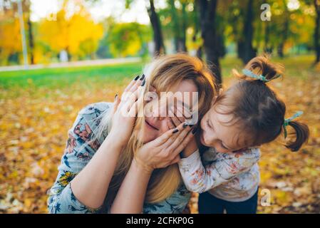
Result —
[[[178,84],[174,89],[170,90],[172,93],[180,92],[182,94],[190,94],[190,103],[192,103],[192,92],[198,92],[197,86],[192,80],[184,80]],[[150,102],[157,102],[157,100],[152,100]],[[180,98],[177,98],[177,103],[184,102]],[[150,117],[145,117],[145,123],[143,125],[143,142],[150,142],[155,140],[160,135],[165,133],[167,130],[170,130],[170,117],[167,113],[166,105],[154,105],[153,110],[150,112]]]

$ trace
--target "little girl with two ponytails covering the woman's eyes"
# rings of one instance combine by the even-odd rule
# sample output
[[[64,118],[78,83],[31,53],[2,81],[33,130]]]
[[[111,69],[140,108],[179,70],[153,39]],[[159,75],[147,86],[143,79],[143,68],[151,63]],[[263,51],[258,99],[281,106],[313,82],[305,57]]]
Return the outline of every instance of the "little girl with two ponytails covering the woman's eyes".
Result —
[[[200,193],[200,213],[256,213],[258,147],[282,132],[286,138],[288,125],[295,132],[295,140],[285,145],[291,151],[309,137],[309,128],[293,120],[302,112],[285,119],[286,105],[267,86],[281,75],[278,66],[257,57],[242,72],[234,71],[242,80],[220,94],[201,120],[202,156],[194,142],[179,162],[187,189]]]

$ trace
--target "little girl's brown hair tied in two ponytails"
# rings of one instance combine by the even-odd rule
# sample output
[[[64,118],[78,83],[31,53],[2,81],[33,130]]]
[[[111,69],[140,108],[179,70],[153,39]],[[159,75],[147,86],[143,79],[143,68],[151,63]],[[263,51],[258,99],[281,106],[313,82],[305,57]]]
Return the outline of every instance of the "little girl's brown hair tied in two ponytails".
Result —
[[[267,56],[252,58],[245,68],[257,76],[264,76],[268,81],[282,75],[282,67],[271,63]],[[275,140],[284,132],[286,105],[266,82],[249,78],[235,70],[233,73],[240,81],[218,96],[215,110],[220,105],[230,107],[223,113],[232,114],[233,120],[241,123],[241,128],[249,133],[249,146]],[[289,126],[294,130],[295,139],[287,142],[285,146],[291,151],[297,151],[308,140],[309,128],[304,123],[294,120],[289,122]]]

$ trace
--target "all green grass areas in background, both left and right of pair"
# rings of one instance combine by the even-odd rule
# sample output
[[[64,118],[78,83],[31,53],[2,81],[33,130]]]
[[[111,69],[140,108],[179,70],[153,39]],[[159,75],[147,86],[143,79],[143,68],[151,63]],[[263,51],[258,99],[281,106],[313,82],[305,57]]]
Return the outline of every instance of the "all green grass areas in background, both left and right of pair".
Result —
[[[306,78],[311,74],[319,74],[311,64],[314,56],[296,56],[284,59],[273,58],[272,61],[282,63],[286,76]],[[241,70],[242,62],[234,57],[226,57],[221,61],[222,76],[232,76],[232,68]],[[112,66],[87,66],[71,68],[43,68],[29,71],[0,72],[0,89],[16,90],[17,88],[66,88],[73,83],[86,84],[119,83],[141,73],[143,63],[125,63]]]

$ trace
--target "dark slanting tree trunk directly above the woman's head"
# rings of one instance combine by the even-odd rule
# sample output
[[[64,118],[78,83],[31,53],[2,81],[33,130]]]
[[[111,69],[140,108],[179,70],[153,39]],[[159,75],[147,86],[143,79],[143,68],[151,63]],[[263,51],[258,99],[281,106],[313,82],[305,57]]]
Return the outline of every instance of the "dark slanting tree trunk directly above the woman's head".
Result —
[[[153,27],[153,41],[155,42],[154,56],[158,56],[162,53],[165,53],[165,46],[163,45],[160,20],[157,13],[155,12],[155,5],[153,4],[153,0],[150,0],[150,8],[148,8],[148,14],[150,17],[151,25]]]

